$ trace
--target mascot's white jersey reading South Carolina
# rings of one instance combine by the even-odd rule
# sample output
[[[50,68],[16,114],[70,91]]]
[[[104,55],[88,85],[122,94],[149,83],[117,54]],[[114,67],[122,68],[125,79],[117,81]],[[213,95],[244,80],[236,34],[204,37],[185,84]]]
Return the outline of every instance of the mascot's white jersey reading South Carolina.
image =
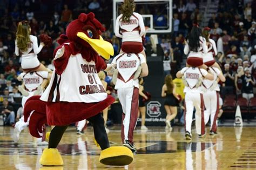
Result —
[[[95,103],[106,97],[95,62],[87,62],[78,53],[70,56],[68,65],[60,75],[53,71],[50,84],[40,99],[51,102]]]

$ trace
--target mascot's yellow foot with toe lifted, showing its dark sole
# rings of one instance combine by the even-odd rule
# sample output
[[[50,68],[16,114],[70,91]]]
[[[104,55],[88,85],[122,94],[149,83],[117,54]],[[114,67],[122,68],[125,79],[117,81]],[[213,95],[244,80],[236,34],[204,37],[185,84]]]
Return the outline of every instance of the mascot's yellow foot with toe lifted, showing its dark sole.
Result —
[[[104,165],[124,166],[132,161],[132,151],[124,146],[112,146],[100,152],[99,162]]]

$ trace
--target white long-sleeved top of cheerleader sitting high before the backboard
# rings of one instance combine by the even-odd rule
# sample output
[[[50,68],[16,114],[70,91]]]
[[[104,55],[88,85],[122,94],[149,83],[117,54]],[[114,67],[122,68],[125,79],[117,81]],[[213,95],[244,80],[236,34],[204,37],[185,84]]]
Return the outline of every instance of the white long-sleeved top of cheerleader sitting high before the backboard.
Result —
[[[116,20],[115,34],[123,38],[123,42],[140,42],[145,33],[143,17],[137,12],[133,12],[129,22],[122,21],[123,14],[119,15]]]

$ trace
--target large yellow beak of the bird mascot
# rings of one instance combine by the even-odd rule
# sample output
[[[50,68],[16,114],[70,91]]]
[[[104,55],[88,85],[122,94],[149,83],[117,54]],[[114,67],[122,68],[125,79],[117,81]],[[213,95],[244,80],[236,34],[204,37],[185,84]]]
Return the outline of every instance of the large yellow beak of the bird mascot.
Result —
[[[105,41],[102,36],[99,36],[99,39],[93,39],[89,38],[84,32],[77,32],[77,37],[89,43],[91,47],[105,59],[110,59],[110,55],[114,55],[113,45]]]

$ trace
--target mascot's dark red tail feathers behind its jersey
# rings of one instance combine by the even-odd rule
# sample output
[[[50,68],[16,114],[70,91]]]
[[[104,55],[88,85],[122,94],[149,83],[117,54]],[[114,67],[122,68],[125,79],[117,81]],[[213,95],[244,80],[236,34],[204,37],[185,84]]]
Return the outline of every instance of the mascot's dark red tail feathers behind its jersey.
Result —
[[[29,131],[33,137],[41,138],[43,133],[43,125],[47,123],[46,119],[46,103],[40,100],[41,96],[30,97],[24,106],[24,121],[28,121]]]

